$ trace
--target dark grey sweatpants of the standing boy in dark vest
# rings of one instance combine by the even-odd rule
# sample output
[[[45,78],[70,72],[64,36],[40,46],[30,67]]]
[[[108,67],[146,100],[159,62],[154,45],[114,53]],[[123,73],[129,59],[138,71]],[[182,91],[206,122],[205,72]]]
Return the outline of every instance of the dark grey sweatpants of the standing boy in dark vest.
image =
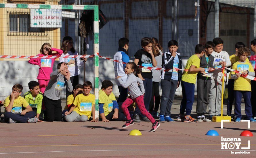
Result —
[[[209,103],[209,92],[211,89],[211,80],[197,79],[197,103],[196,113],[198,116],[205,115]]]

